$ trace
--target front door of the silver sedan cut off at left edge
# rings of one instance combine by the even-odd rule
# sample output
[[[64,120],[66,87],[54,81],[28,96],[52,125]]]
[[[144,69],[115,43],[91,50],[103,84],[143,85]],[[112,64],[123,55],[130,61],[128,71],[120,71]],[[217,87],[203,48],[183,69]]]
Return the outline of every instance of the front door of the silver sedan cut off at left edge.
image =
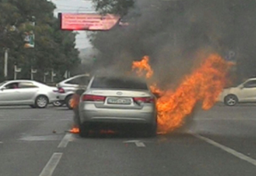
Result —
[[[6,83],[0,90],[0,105],[18,104],[19,88],[18,82]]]

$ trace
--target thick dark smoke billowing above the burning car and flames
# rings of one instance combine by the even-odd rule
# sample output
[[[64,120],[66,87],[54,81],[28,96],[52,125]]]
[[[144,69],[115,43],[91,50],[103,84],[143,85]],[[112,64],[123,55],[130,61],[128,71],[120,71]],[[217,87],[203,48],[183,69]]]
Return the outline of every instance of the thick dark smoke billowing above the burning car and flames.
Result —
[[[198,57],[217,52],[237,61],[238,80],[253,76],[255,8],[252,0],[137,0],[123,17],[129,26],[93,36],[92,44],[101,52],[97,71],[125,73],[133,60],[149,55],[157,80],[177,83]]]

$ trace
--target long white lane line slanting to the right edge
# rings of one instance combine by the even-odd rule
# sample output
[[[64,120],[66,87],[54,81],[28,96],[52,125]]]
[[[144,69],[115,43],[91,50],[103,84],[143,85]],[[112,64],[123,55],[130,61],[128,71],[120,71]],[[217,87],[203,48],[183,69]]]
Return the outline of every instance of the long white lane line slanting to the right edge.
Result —
[[[207,137],[200,136],[199,134],[192,134],[192,135],[194,137],[199,138],[200,140],[206,141],[207,143],[209,143],[211,145],[214,145],[215,147],[220,148],[221,150],[226,151],[227,153],[230,153],[230,154],[234,155],[237,158],[240,158],[241,160],[247,161],[248,163],[251,163],[251,164],[256,166],[256,160],[254,160],[253,158],[248,157],[247,155],[239,153],[238,151],[235,151],[232,148],[229,148],[229,147],[226,147],[226,146],[221,145],[219,143],[216,143],[215,141],[210,140]]]

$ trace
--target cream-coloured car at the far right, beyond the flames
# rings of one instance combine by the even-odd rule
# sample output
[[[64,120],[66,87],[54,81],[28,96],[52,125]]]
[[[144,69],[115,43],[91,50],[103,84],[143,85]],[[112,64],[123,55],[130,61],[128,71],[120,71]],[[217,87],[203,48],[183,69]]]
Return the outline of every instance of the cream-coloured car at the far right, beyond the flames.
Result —
[[[235,106],[237,103],[255,103],[256,78],[248,79],[237,87],[224,89],[220,95],[220,101],[227,106]]]

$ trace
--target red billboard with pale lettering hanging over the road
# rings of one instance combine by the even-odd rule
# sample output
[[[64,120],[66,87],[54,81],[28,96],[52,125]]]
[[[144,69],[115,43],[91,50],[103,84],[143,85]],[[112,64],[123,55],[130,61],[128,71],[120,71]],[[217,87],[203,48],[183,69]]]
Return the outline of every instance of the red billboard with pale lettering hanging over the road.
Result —
[[[120,16],[96,13],[60,13],[60,29],[70,31],[108,31],[120,21]]]

